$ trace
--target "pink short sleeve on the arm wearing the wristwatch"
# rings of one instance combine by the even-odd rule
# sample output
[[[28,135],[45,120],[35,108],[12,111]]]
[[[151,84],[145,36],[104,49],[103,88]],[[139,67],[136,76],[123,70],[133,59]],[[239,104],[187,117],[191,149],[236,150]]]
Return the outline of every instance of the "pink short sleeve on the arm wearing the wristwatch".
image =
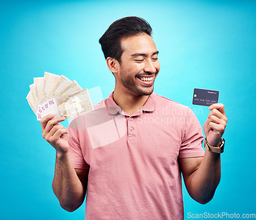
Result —
[[[193,111],[189,107],[187,108],[184,136],[181,142],[179,158],[203,157],[204,149],[202,143],[204,136],[202,127]]]

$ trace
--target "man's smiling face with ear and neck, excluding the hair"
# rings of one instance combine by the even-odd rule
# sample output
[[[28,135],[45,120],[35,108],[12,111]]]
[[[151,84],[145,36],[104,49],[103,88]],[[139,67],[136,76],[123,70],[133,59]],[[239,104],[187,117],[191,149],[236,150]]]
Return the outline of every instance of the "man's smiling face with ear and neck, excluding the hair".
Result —
[[[107,57],[106,63],[116,78],[113,98],[124,112],[132,115],[153,93],[160,70],[158,51],[154,40],[146,33],[122,38],[120,46],[123,50],[120,60]]]

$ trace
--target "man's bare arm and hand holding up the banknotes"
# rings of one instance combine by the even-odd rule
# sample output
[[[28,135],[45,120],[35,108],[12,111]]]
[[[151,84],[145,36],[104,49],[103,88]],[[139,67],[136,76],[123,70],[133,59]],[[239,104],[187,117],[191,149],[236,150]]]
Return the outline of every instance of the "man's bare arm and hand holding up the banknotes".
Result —
[[[60,206],[67,211],[76,210],[84,201],[89,169],[74,169],[69,153],[67,128],[59,124],[65,118],[45,116],[40,120],[42,137],[56,149],[53,191]]]

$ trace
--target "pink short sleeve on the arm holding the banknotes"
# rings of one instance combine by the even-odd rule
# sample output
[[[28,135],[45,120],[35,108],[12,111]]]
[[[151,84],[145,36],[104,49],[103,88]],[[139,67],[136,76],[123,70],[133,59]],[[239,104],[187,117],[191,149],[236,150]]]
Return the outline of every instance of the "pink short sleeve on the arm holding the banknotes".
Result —
[[[70,124],[72,123],[72,127]],[[89,169],[90,166],[84,161],[83,153],[79,142],[78,129],[75,127],[75,120],[72,120],[68,126],[69,131],[69,152],[75,169]]]

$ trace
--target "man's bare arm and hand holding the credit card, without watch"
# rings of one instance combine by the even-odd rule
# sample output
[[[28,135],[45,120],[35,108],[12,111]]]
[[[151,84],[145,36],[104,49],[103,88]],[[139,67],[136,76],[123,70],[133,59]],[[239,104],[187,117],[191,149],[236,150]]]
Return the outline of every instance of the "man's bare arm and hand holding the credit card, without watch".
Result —
[[[203,126],[204,134],[209,145],[219,147],[227,124],[224,105],[213,104],[209,109]],[[179,162],[189,195],[201,204],[208,203],[221,179],[220,153],[206,150],[204,157],[179,158]]]

